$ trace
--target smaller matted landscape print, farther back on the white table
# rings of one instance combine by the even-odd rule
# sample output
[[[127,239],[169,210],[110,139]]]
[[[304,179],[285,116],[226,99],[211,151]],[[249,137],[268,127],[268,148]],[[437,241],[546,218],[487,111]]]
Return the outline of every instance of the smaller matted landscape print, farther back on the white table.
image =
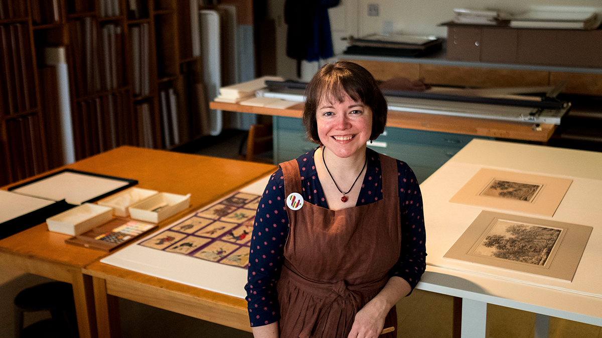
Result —
[[[561,177],[482,168],[450,202],[552,217],[571,183]]]

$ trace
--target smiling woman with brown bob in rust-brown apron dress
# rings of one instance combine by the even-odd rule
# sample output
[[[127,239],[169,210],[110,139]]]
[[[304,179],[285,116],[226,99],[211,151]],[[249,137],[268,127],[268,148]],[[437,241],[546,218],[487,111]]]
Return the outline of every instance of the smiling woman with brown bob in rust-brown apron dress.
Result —
[[[395,304],[425,268],[418,182],[366,147],[387,112],[367,70],[327,64],[306,96],[303,124],[320,146],[282,163],[259,201],[245,287],[253,334],[396,337]]]

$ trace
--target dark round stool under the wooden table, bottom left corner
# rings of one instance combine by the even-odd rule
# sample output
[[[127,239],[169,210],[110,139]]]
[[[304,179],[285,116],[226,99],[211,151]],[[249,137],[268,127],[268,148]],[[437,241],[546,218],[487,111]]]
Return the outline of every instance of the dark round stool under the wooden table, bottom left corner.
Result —
[[[48,311],[46,319],[23,328],[25,312]],[[79,337],[71,284],[62,281],[28,287],[14,298],[15,337]]]

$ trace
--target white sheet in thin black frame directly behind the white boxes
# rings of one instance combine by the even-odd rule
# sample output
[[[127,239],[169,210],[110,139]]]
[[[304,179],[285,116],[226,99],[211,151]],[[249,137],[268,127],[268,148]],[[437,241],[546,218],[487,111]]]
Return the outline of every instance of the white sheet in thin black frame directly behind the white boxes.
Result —
[[[122,180],[67,171],[14,189],[13,192],[53,201],[64,199],[69,204],[79,205],[128,184]]]

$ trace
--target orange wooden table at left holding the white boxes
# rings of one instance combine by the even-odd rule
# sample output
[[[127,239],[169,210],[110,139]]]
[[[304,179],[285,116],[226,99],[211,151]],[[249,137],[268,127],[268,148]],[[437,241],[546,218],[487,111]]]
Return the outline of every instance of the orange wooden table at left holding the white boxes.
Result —
[[[137,186],[140,188],[174,194],[191,193],[190,207],[163,221],[160,226],[169,224],[276,170],[274,165],[129,146],[92,156],[64,168],[136,179]],[[54,171],[61,169],[63,168]],[[65,244],[64,240],[67,238],[70,236],[49,232],[45,223],[34,226],[0,240],[0,262],[5,266],[14,266],[18,271],[71,283],[75,296],[79,336],[97,337],[98,330],[104,332],[102,330],[107,328],[105,322],[101,321],[102,325],[97,325],[96,321],[96,308],[107,309],[107,304],[98,301],[95,304],[95,295],[102,293],[105,284],[101,278],[93,278],[82,273],[82,269],[104,257],[105,253]],[[117,272],[115,275],[122,274]],[[144,283],[144,278],[141,280],[141,283]],[[133,281],[129,279],[125,281],[136,285],[140,283],[140,280],[135,278]],[[148,287],[152,288],[151,284],[147,289]],[[174,286],[172,289],[178,290],[178,287]],[[190,290],[190,292],[199,291]],[[177,299],[173,295],[170,297],[172,301]],[[211,303],[225,303],[219,295],[213,297],[208,297]],[[106,311],[104,316],[102,314],[99,316],[101,320],[107,318]]]

